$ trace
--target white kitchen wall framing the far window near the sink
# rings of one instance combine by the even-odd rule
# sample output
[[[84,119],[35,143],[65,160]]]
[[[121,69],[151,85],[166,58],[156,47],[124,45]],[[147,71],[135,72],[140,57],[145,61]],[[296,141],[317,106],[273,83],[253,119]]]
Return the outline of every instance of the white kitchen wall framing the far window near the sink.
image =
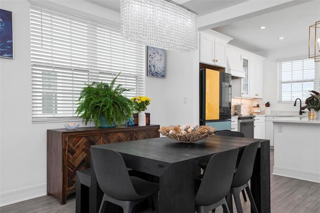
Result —
[[[263,62],[262,102],[267,103],[269,101],[272,111],[299,111],[299,106],[293,106],[293,102],[277,103],[277,61],[281,59],[308,58],[308,43],[257,54],[267,57]]]

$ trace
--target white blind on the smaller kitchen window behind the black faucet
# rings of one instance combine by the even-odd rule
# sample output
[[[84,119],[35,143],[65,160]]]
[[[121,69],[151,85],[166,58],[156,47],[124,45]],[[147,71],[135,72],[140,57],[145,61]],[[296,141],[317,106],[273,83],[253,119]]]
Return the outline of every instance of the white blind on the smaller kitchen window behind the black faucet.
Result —
[[[278,102],[304,101],[319,89],[319,67],[314,59],[278,62]]]

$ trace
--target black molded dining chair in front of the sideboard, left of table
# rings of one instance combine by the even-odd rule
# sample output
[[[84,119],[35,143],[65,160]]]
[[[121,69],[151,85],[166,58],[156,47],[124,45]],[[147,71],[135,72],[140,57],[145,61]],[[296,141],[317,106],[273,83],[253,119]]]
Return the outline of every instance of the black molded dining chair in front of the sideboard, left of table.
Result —
[[[104,193],[99,213],[104,212],[107,201],[121,206],[124,213],[131,213],[136,204],[148,197],[153,198],[159,212],[159,184],[129,176],[122,156],[115,151],[91,147],[91,157],[97,182]]]

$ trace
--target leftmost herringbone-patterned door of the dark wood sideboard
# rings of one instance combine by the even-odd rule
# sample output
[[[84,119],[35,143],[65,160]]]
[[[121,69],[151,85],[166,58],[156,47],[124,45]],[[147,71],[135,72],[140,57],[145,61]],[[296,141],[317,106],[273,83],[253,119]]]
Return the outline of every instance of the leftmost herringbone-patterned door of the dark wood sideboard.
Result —
[[[76,185],[76,171],[89,169],[91,164],[90,147],[101,144],[101,134],[67,137],[67,187]]]

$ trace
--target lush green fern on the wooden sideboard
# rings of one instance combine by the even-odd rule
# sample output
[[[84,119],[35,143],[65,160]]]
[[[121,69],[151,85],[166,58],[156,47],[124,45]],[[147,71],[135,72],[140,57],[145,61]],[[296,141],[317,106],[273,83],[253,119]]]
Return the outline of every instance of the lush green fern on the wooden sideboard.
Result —
[[[80,93],[76,110],[85,125],[89,121],[93,121],[94,125],[99,127],[100,117],[104,116],[110,125],[118,122],[120,127],[124,120],[126,121],[132,116],[133,102],[122,95],[124,91],[130,91],[130,89],[121,88],[121,84],[113,89],[119,75],[120,73],[110,84],[103,82],[85,83],[86,87]]]

